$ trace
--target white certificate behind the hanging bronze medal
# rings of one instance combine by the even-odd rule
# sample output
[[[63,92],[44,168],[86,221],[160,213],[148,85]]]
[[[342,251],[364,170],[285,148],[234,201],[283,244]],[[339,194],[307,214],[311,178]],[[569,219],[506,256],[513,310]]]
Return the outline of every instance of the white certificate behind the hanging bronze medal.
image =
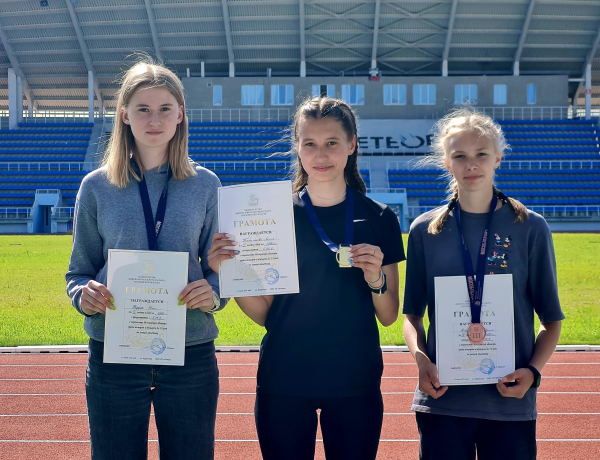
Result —
[[[512,275],[486,275],[481,344],[467,337],[471,305],[464,276],[435,278],[436,361],[442,385],[497,383],[515,370]]]

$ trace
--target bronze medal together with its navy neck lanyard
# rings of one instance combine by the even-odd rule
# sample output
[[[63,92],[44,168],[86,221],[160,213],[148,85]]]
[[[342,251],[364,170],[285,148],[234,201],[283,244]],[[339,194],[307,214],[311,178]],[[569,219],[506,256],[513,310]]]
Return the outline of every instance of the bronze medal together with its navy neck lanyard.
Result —
[[[490,204],[490,211],[488,213],[487,223],[485,224],[485,230],[483,231],[483,237],[481,238],[479,254],[477,255],[476,277],[475,271],[473,270],[473,263],[471,262],[471,256],[469,255],[469,250],[467,249],[465,237],[460,225],[460,203],[458,201],[456,202],[456,209],[454,212],[458,234],[460,235],[462,244],[463,266],[465,269],[465,277],[467,279],[467,290],[469,291],[469,303],[471,304],[471,324],[467,330],[467,337],[474,345],[481,345],[487,335],[485,327],[481,324],[481,301],[483,299],[483,282],[485,280],[487,237],[497,204],[498,197],[494,195],[492,203]]]

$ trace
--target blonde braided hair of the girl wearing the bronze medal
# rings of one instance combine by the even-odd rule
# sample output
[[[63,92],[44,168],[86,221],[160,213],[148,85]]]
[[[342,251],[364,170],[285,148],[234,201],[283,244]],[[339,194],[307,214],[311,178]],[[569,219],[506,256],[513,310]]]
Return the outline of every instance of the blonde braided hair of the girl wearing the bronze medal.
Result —
[[[475,131],[479,136],[485,136],[491,139],[494,143],[494,149],[497,154],[503,154],[507,150],[508,145],[504,138],[502,128],[491,117],[482,112],[477,112],[475,109],[462,107],[454,110],[435,124],[435,135],[433,138],[434,154],[423,161],[423,163],[435,164],[440,169],[446,169],[444,159],[446,157],[448,140],[456,134],[465,131]],[[442,231],[444,224],[448,219],[450,211],[454,209],[458,201],[458,183],[452,177],[450,172],[444,173],[444,176],[449,179],[448,183],[448,205],[440,208],[439,212],[429,222],[427,232],[436,235]],[[509,198],[500,192],[496,187],[494,195],[498,196],[505,204],[508,204],[515,212],[517,218],[515,222],[523,222],[529,216],[527,208],[515,200]]]

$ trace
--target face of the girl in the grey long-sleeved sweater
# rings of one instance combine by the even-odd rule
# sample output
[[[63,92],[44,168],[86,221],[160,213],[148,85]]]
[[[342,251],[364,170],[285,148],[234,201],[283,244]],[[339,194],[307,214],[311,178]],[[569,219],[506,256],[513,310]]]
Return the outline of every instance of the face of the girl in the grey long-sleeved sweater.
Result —
[[[183,106],[166,88],[138,89],[121,112],[123,123],[131,126],[138,148],[165,148],[183,121]]]

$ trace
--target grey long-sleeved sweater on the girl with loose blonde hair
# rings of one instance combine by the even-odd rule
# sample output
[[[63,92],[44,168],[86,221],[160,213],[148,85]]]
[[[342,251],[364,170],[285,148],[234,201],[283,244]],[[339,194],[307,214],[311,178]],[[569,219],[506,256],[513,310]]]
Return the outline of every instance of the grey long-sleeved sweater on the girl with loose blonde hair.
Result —
[[[189,253],[188,283],[206,279],[217,293],[219,277],[208,266],[208,250],[212,236],[218,232],[217,176],[194,166],[195,176],[182,181],[171,179],[167,209],[157,246],[159,251]],[[144,173],[152,213],[167,182],[167,168],[155,168]],[[79,306],[81,289],[89,280],[106,285],[109,249],[148,250],[144,210],[135,179],[127,187],[118,188],[100,168],[83,179],[75,202],[73,219],[73,251],[66,274],[67,294],[73,306]],[[201,259],[200,262],[198,259]],[[224,307],[225,300],[221,302]],[[184,308],[184,307],[181,307]],[[84,329],[94,340],[104,340],[104,315],[85,315]],[[186,345],[210,342],[219,329],[212,315],[199,309],[188,310]]]

